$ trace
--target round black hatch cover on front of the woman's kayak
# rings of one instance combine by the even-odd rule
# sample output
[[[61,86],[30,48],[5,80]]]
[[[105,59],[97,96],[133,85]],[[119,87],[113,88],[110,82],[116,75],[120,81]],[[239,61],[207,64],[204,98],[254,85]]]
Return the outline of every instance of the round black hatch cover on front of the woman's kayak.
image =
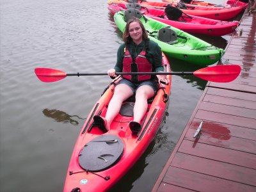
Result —
[[[84,170],[100,172],[117,163],[124,152],[124,143],[116,135],[104,134],[94,138],[81,150],[78,161]]]

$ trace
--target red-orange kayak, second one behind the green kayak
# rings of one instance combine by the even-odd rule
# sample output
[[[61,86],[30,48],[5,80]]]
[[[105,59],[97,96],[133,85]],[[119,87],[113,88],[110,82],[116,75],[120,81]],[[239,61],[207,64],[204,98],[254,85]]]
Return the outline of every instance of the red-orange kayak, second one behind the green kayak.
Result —
[[[126,4],[127,2],[122,0],[108,1],[108,4],[112,4],[112,3]],[[165,6],[167,6],[170,3],[157,2],[157,1],[138,1],[138,4],[146,8],[164,9]],[[177,7],[177,3],[171,3],[171,5]],[[189,4],[186,6],[178,6],[178,8],[182,9],[182,12],[188,15],[194,15],[198,17],[205,17],[205,18],[216,19],[216,20],[232,19],[233,17],[236,17],[236,15],[238,15],[240,12],[242,12],[245,9],[244,6],[214,7],[214,6],[197,6],[193,4]]]

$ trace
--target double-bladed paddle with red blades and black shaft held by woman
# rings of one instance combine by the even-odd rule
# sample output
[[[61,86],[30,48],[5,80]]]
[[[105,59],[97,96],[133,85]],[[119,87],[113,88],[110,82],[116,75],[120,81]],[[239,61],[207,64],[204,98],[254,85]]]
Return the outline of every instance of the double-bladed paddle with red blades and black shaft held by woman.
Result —
[[[239,65],[216,65],[213,67],[201,68],[195,72],[116,72],[116,75],[193,75],[206,81],[227,83],[236,79],[240,72],[241,67]],[[46,83],[60,81],[67,76],[108,76],[107,73],[67,74],[54,68],[35,68],[35,74],[40,81]]]

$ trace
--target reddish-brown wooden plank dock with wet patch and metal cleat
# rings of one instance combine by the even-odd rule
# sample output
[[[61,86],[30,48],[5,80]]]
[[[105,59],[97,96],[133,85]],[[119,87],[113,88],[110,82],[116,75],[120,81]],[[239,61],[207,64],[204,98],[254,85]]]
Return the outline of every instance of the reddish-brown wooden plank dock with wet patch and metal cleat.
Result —
[[[256,13],[246,10],[223,56],[241,74],[207,83],[152,191],[256,191],[255,33]]]

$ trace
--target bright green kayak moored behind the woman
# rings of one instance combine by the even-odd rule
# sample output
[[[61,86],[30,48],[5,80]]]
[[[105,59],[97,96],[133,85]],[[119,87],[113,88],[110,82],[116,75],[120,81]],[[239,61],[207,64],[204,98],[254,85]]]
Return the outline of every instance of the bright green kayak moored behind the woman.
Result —
[[[138,17],[141,20],[150,40],[157,42],[168,57],[205,66],[216,63],[225,53],[223,49],[180,29],[141,15],[140,11],[134,9],[115,13],[114,20],[120,31],[124,31],[126,21],[131,17]]]

